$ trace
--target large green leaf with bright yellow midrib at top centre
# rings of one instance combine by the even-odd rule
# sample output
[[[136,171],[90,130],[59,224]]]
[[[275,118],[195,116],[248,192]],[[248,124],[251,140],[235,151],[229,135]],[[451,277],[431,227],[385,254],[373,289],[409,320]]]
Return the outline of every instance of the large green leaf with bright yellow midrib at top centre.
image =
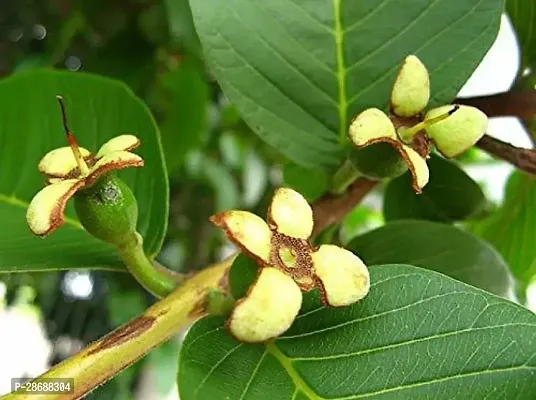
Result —
[[[213,73],[244,120],[304,167],[332,170],[349,121],[386,108],[400,62],[450,102],[493,43],[502,0],[190,0]]]

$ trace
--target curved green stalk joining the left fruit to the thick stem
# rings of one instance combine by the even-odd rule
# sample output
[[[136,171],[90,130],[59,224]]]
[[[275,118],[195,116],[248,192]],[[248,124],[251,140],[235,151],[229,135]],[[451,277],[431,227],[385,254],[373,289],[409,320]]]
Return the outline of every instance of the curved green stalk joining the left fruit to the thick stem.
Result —
[[[165,297],[177,287],[179,282],[162,269],[155,268],[145,255],[142,243],[141,236],[134,233],[125,244],[116,248],[134,278],[153,295]]]

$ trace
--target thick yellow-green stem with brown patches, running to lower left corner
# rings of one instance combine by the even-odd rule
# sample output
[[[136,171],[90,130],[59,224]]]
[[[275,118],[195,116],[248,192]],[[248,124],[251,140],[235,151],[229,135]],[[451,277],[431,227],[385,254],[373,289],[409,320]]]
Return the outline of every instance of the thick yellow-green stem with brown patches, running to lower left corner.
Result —
[[[86,395],[202,316],[207,293],[221,289],[234,258],[235,255],[200,271],[140,316],[34,379],[72,378],[74,393],[24,395],[19,392],[0,399],[72,400]]]

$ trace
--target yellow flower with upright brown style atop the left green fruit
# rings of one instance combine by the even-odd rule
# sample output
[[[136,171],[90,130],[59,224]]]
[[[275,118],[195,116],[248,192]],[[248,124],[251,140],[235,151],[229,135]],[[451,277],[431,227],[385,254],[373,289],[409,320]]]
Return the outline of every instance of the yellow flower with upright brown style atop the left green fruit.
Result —
[[[41,237],[63,224],[67,201],[77,191],[114,170],[143,166],[143,159],[130,152],[140,144],[133,135],[121,135],[107,141],[95,155],[79,147],[67,126],[62,98],[58,96],[57,99],[69,146],[48,152],[39,162],[38,170],[45,174],[46,186],[34,196],[26,211],[30,230]]]

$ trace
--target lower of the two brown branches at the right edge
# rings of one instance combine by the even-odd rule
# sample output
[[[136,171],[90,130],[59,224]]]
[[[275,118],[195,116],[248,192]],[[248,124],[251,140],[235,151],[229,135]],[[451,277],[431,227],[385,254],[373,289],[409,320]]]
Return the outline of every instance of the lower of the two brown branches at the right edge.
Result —
[[[476,146],[501,160],[508,161],[522,171],[536,175],[535,150],[512,146],[488,135],[484,135]]]

